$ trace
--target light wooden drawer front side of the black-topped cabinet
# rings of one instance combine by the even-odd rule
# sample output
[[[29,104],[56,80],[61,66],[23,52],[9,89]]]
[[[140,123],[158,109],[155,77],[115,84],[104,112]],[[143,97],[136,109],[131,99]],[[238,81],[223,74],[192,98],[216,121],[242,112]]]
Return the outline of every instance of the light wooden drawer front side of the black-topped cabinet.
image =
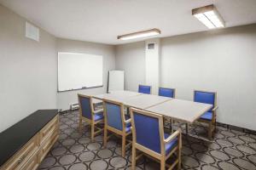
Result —
[[[59,116],[55,116],[30,139],[0,170],[34,170],[59,137]]]

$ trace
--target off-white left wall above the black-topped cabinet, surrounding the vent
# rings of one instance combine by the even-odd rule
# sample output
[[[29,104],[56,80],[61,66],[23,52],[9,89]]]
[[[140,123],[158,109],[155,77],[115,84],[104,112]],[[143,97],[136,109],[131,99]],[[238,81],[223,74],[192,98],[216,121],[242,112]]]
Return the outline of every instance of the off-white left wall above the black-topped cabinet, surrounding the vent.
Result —
[[[25,19],[0,5],[0,132],[38,109],[56,108],[55,37],[25,37]]]

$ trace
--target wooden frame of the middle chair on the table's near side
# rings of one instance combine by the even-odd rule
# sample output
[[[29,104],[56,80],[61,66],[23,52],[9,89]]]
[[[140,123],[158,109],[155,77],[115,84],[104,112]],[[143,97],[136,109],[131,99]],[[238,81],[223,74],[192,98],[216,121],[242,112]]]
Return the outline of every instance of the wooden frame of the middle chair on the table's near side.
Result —
[[[108,116],[107,116],[107,109],[106,109],[106,102],[114,104],[114,105],[119,105],[120,110],[121,110],[121,119],[122,119],[122,125],[123,125],[123,130],[120,131],[119,129],[116,129],[114,127],[108,126]],[[131,141],[126,144],[126,137],[131,134],[131,131],[129,133],[126,133],[125,127],[126,124],[131,122],[131,118],[128,120],[125,120],[125,111],[124,111],[124,105],[122,103],[119,103],[117,101],[113,101],[110,99],[103,99],[103,111],[104,111],[104,139],[103,139],[103,146],[106,148],[108,139],[111,137],[111,135],[108,136],[108,131],[118,134],[119,136],[122,137],[122,156],[125,157],[125,150],[127,147],[131,145]]]

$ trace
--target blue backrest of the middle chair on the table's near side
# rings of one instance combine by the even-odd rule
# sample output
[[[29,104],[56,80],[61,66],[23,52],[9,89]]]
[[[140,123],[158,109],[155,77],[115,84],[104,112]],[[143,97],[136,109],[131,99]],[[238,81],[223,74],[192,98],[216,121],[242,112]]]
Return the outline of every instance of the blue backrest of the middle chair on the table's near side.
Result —
[[[122,112],[120,105],[105,102],[108,126],[123,130]]]

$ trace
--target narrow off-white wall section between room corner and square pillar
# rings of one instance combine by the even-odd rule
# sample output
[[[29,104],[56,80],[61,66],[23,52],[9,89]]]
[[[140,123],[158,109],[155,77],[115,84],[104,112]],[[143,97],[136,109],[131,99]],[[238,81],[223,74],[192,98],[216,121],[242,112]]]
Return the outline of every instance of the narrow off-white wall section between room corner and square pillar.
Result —
[[[145,42],[116,46],[115,66],[125,71],[125,89],[137,91],[145,83]]]

